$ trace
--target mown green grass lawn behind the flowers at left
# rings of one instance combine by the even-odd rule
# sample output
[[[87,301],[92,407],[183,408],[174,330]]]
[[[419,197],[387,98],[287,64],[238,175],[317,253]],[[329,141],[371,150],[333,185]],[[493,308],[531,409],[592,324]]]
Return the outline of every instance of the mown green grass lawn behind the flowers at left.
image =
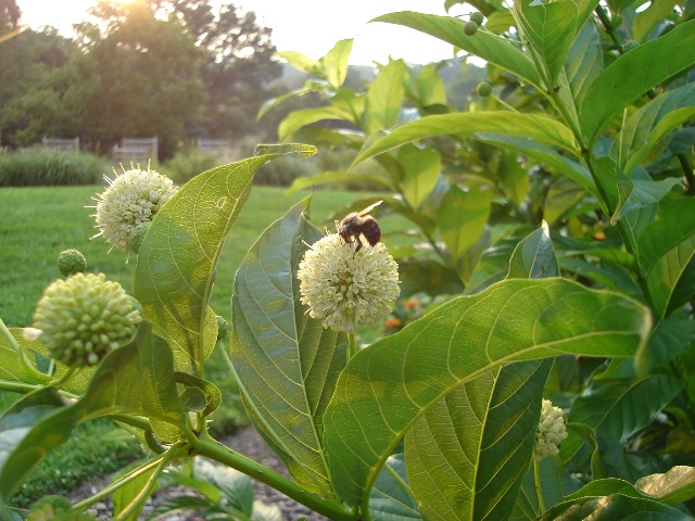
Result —
[[[31,315],[43,289],[60,277],[55,260],[61,251],[77,249],[87,257],[88,271],[103,271],[132,291],[137,257],[119,250],[108,254],[109,245],[101,238],[90,241],[94,221],[89,215],[94,204],[90,199],[101,187],[51,187],[0,189],[0,318],[8,327],[31,325]],[[229,319],[235,272],[258,236],[280,218],[306,192],[285,195],[285,189],[254,187],[249,201],[225,242],[217,266],[217,281],[211,306]],[[312,215],[318,227],[333,228],[333,212],[366,194],[318,191],[312,200]],[[206,377],[216,383],[225,396],[214,415],[213,432],[224,432],[243,421],[242,407],[235,383],[222,357],[215,352],[206,363]],[[7,406],[16,395],[0,396]],[[90,475],[117,468],[124,461],[141,456],[132,440],[113,436],[109,420],[92,421],[78,427],[76,436],[52,453],[36,470],[14,503],[27,505],[47,493],[65,493]],[[75,437],[77,441],[75,441]]]

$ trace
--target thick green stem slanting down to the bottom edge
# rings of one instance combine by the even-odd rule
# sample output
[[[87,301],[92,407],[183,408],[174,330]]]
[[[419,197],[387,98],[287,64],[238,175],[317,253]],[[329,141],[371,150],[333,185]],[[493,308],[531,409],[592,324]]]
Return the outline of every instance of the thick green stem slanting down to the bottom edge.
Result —
[[[197,454],[237,469],[329,519],[334,521],[355,521],[358,518],[358,512],[348,510],[340,505],[306,492],[283,475],[219,444],[207,435],[201,435],[200,440],[190,439],[190,442]]]

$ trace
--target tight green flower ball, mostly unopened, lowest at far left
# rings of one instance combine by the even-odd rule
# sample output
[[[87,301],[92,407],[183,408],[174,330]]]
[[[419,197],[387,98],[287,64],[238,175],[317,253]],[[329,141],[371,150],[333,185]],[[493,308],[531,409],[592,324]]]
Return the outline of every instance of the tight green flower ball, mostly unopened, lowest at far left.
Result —
[[[34,327],[51,356],[70,367],[94,366],[142,321],[132,300],[103,274],[76,274],[43,292]]]

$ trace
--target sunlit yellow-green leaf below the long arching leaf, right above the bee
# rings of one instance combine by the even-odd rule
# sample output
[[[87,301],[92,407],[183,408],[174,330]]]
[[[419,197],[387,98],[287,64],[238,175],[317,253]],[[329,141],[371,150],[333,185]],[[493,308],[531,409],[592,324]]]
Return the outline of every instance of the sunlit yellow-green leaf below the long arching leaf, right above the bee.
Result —
[[[399,150],[397,158],[403,165],[401,192],[413,208],[418,208],[437,186],[442,156],[432,149],[410,144]]]

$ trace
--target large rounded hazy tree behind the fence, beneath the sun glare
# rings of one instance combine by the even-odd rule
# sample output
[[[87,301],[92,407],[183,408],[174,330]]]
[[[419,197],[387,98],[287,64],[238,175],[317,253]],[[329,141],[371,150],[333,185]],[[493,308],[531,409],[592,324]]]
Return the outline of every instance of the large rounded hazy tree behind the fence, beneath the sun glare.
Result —
[[[102,1],[92,14],[106,27],[78,27],[85,53],[72,65],[80,81],[66,93],[83,132],[102,152],[124,136],[157,136],[161,155],[172,155],[201,118],[203,53],[180,23],[156,18],[148,2]]]

